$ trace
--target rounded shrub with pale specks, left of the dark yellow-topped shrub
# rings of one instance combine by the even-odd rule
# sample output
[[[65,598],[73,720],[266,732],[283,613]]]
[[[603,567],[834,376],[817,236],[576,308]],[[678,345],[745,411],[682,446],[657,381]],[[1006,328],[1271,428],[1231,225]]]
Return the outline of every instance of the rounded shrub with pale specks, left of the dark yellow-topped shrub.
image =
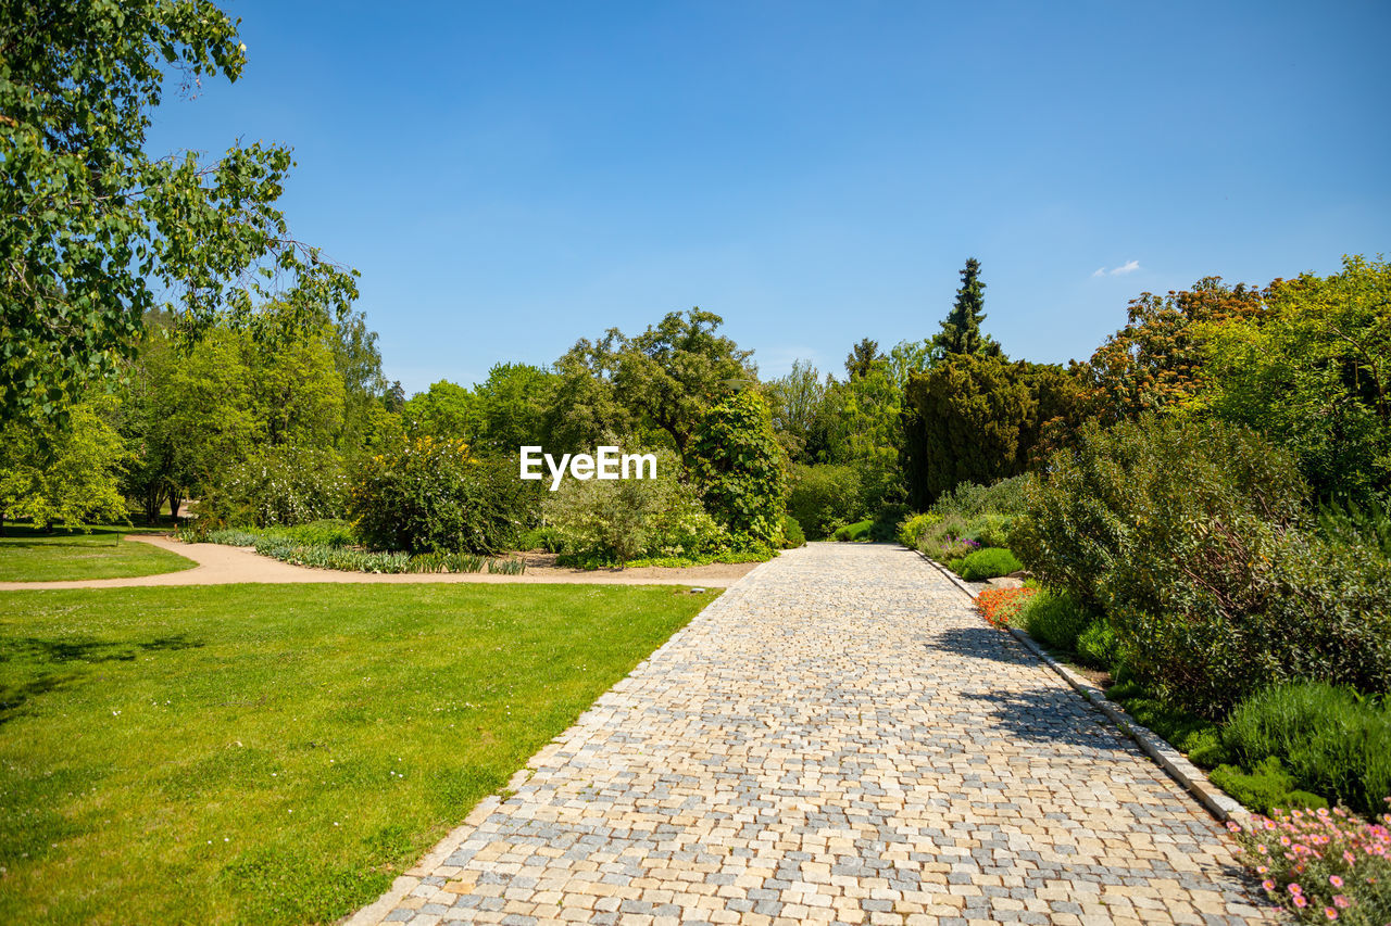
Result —
[[[317,448],[266,448],[204,487],[199,520],[238,527],[307,524],[342,517],[348,481],[342,460]]]

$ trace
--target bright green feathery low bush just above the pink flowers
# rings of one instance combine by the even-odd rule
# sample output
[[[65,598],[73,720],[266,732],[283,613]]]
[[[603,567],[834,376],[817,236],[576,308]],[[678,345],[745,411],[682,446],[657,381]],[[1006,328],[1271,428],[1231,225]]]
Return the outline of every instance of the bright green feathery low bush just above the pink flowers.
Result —
[[[1232,709],[1223,741],[1241,765],[1278,756],[1295,787],[1363,815],[1380,813],[1391,794],[1391,705],[1346,688],[1267,688]],[[1257,809],[1269,806],[1288,805]]]

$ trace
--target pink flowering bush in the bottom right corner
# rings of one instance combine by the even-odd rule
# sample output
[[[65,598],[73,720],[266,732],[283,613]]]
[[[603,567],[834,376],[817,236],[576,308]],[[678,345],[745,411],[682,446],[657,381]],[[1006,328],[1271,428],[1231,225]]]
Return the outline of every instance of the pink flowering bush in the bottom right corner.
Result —
[[[1271,901],[1305,922],[1358,926],[1391,922],[1388,826],[1391,813],[1367,823],[1342,808],[1276,811],[1249,829],[1227,825]]]

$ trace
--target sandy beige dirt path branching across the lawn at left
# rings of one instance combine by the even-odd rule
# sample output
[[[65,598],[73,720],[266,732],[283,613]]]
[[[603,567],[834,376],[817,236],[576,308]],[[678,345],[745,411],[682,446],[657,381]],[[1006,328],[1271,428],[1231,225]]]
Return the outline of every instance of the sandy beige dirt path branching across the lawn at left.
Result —
[[[691,566],[687,569],[664,569],[645,566],[641,569],[581,570],[558,566],[529,566],[522,576],[494,576],[491,573],[412,573],[381,576],[376,573],[345,573],[334,569],[310,569],[291,566],[268,556],[243,548],[221,544],[184,544],[181,541],[142,535],[127,537],[128,541],[150,544],[185,556],[198,563],[195,569],[159,576],[132,576],[128,578],[86,578],[56,583],[0,583],[0,591],[25,591],[35,588],[129,588],[136,585],[232,585],[238,583],[495,583],[495,584],[602,584],[602,585],[704,585],[707,588],[727,588],[758,563]]]

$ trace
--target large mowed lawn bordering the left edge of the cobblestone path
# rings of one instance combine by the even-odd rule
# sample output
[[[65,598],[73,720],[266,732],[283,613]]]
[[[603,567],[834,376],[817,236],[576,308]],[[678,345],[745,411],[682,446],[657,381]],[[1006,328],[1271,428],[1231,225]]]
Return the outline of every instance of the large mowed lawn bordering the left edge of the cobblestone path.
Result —
[[[0,922],[334,920],[714,596],[0,592]]]

